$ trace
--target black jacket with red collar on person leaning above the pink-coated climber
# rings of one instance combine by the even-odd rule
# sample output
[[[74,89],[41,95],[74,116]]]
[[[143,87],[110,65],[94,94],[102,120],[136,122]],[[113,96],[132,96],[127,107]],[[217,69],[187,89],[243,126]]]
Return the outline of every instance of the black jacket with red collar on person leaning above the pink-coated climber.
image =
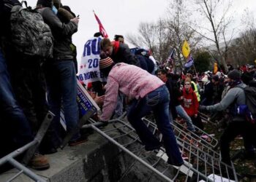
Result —
[[[117,52],[113,50],[110,58],[112,58],[115,63],[122,62],[140,67],[140,61],[132,54],[129,47],[124,44],[119,44]]]

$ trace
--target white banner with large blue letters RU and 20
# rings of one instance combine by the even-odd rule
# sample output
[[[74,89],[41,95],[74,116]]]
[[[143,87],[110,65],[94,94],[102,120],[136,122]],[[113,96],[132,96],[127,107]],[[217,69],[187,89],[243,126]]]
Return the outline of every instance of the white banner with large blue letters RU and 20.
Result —
[[[78,68],[79,80],[84,84],[89,82],[106,82],[106,77],[99,71],[99,54],[100,54],[100,41],[102,38],[93,37],[86,41],[83,49],[83,55]]]

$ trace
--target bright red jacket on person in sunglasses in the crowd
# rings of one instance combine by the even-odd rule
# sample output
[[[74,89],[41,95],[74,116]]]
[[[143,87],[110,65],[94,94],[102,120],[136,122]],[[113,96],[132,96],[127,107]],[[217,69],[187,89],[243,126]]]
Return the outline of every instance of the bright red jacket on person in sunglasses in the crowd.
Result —
[[[185,88],[183,89],[184,100],[182,106],[189,116],[194,116],[198,112],[199,103],[197,101],[197,95],[190,87],[189,93],[186,92]]]

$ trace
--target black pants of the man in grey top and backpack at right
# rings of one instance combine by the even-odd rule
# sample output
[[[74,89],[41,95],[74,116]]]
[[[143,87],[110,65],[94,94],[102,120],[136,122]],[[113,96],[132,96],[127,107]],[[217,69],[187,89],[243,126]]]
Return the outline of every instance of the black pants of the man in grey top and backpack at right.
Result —
[[[222,162],[230,165],[230,142],[233,141],[236,136],[242,135],[244,138],[245,148],[255,146],[256,138],[255,124],[251,124],[241,119],[240,121],[230,122],[222,136],[220,138],[220,151],[222,154]]]

